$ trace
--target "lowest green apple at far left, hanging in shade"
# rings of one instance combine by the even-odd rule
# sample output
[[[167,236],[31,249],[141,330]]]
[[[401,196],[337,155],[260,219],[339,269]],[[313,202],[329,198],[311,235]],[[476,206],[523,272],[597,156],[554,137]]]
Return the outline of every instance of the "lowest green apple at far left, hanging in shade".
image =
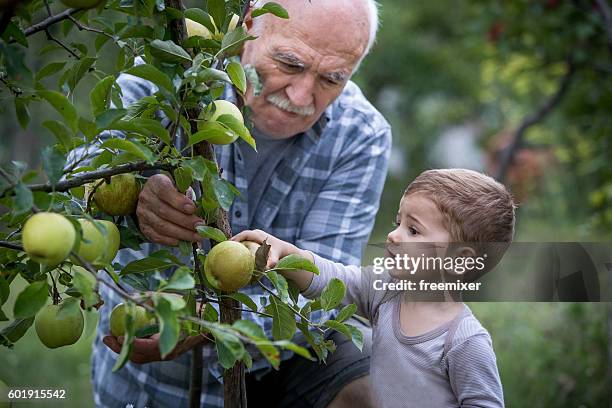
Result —
[[[34,327],[40,341],[49,348],[74,344],[83,333],[83,312],[76,299],[47,305],[36,315]]]

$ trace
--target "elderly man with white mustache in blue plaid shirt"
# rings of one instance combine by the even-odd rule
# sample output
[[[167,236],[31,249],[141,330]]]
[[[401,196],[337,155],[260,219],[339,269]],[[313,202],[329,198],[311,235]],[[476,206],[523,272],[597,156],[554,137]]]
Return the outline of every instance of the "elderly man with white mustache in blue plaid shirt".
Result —
[[[231,208],[231,226],[234,233],[264,229],[327,258],[358,264],[374,223],[391,143],[388,123],[349,81],[374,42],[376,3],[280,3],[289,20],[246,19],[258,39],[245,45],[242,63],[255,67],[263,83],[259,95],[249,88],[246,97],[259,153],[243,142],[216,147],[224,177],[242,193]],[[150,93],[150,85],[137,78],[119,82],[126,105]],[[194,212],[193,202],[168,177],[150,177],[137,209],[140,229],[152,241],[144,250],[199,240],[195,226],[202,220]],[[138,256],[124,250],[119,260]],[[261,294],[257,286],[244,292],[255,298]],[[111,293],[103,296],[109,305],[119,301]],[[271,332],[269,320],[247,315]],[[363,330],[367,339],[369,329]],[[325,365],[284,354],[275,372],[256,359],[247,374],[249,404],[368,406],[369,341],[362,353],[338,333],[330,337],[338,347]],[[186,406],[190,363],[189,354],[181,352],[187,348],[160,362],[157,339],[137,339],[132,362],[112,374],[120,339],[108,336],[108,312],[102,314],[92,368],[96,405]],[[206,344],[204,356],[202,404],[221,407],[214,347]]]

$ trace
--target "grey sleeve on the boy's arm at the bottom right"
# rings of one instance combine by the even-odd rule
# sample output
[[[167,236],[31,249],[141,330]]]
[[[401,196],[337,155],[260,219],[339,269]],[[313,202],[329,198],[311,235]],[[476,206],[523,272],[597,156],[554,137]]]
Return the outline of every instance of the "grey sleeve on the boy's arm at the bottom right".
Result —
[[[477,335],[448,352],[448,375],[462,408],[503,408],[504,394],[491,338]]]

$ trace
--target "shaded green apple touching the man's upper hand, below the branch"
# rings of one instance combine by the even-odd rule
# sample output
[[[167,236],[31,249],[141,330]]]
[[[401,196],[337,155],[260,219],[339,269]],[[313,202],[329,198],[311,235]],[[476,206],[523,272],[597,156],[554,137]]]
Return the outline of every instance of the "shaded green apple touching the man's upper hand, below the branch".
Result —
[[[117,174],[110,183],[102,182],[94,193],[93,199],[109,215],[130,215],[136,211],[140,184],[133,174]]]

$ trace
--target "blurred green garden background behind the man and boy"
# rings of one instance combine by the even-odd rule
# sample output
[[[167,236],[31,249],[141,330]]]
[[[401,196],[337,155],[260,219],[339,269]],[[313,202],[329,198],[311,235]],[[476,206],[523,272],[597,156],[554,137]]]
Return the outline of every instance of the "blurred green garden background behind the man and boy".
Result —
[[[612,49],[598,2],[381,3],[378,43],[355,78],[394,129],[371,241],[384,240],[403,189],[422,170],[461,165],[494,172],[496,149],[554,93],[568,58],[575,64],[571,85],[528,130],[521,166],[508,179],[520,200],[516,239],[610,241]],[[75,41],[87,38],[75,32]],[[41,55],[44,34],[36,39],[27,51],[30,66],[66,59],[58,51]],[[116,60],[111,47],[102,53],[100,64]],[[95,82],[86,75],[78,84],[77,108]],[[51,135],[40,121],[22,131],[8,92],[0,98],[0,163],[37,166]],[[32,117],[52,115],[38,106],[31,106]],[[508,406],[609,405],[607,304],[471,306],[493,337]],[[88,317],[88,327],[93,320]],[[91,406],[92,339],[48,350],[31,330],[14,350],[0,349],[0,379],[16,387],[64,388],[70,405]]]

